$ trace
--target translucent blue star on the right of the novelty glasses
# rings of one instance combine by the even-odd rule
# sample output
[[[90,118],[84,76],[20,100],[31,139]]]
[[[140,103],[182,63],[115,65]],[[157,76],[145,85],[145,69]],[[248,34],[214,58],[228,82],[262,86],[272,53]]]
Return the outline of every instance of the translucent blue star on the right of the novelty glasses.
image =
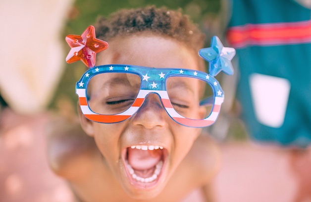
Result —
[[[209,48],[199,51],[200,56],[209,63],[209,74],[217,75],[220,71],[228,75],[232,75],[234,70],[231,64],[232,58],[235,56],[234,48],[223,47],[218,37],[213,36]]]

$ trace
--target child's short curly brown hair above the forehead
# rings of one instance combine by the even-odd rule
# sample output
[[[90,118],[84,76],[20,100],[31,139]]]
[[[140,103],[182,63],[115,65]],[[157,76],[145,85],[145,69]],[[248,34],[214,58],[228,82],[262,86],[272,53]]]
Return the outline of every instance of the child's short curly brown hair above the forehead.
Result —
[[[205,34],[180,9],[169,10],[165,7],[122,9],[112,13],[110,19],[99,17],[95,27],[96,36],[105,41],[116,36],[151,31],[183,42],[196,53],[203,48],[205,39]]]

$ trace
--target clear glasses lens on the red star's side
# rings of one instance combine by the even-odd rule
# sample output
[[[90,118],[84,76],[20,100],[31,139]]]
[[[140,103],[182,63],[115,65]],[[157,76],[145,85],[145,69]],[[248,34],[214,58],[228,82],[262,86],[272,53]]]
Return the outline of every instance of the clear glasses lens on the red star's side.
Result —
[[[93,76],[87,86],[91,110],[113,115],[126,111],[135,101],[141,78],[133,73],[101,73]]]

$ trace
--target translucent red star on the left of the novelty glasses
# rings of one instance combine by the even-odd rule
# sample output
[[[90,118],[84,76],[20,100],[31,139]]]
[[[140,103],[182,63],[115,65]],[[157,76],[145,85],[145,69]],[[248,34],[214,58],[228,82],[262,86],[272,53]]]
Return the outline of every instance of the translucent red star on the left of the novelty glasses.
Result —
[[[70,46],[66,62],[74,63],[81,60],[86,66],[95,66],[97,53],[108,48],[108,43],[95,38],[95,28],[91,25],[80,35],[67,35],[66,42]]]

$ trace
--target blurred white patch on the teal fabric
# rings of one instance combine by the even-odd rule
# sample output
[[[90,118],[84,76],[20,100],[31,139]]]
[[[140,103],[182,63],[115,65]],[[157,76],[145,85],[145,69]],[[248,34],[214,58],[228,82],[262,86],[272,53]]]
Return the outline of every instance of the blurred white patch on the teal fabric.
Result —
[[[249,81],[255,115],[259,123],[273,128],[281,127],[291,88],[289,80],[253,73]]]

